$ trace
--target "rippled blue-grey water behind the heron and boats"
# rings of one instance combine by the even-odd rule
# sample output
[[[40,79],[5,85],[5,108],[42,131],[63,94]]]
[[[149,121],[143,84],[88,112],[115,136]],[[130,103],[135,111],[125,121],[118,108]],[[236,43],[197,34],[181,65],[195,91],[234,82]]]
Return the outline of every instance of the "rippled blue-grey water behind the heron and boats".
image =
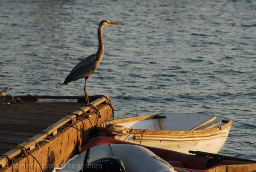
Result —
[[[256,160],[256,1],[2,0],[0,88],[9,94],[83,95],[62,85],[81,56],[104,57],[88,94],[116,118],[202,113],[234,121],[221,154]]]

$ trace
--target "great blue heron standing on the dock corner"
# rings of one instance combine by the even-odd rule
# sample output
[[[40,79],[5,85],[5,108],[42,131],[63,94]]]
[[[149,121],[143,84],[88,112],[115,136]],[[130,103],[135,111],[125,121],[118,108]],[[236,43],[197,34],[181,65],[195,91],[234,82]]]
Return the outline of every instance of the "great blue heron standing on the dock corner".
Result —
[[[111,26],[111,25],[119,25],[119,24],[109,22],[108,20],[102,20],[100,22],[98,27],[98,40],[99,40],[98,51],[96,52],[96,54],[92,54],[84,58],[78,64],[76,64],[76,66],[71,70],[70,74],[66,77],[63,83],[66,85],[69,82],[73,82],[80,78],[85,78],[84,95],[85,95],[86,105],[89,105],[87,90],[86,90],[87,80],[89,76],[96,71],[104,53],[103,40],[102,40],[102,28],[104,26]]]

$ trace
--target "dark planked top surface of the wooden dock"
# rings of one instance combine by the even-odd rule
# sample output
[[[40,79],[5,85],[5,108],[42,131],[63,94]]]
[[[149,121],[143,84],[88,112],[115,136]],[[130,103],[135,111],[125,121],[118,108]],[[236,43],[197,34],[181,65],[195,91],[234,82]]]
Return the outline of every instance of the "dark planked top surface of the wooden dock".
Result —
[[[6,148],[1,149],[0,154],[35,136],[81,106],[82,102],[20,102],[1,105],[0,143],[6,143]]]

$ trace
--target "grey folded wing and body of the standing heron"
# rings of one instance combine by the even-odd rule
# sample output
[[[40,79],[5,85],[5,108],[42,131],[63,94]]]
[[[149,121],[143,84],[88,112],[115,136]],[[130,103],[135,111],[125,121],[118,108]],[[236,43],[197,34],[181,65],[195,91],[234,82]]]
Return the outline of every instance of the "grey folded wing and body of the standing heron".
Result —
[[[66,77],[63,84],[68,84],[68,82],[72,82],[80,78],[89,76],[90,74],[95,72],[97,67],[98,60],[95,54],[92,54],[76,64],[76,66],[71,70],[70,74]]]

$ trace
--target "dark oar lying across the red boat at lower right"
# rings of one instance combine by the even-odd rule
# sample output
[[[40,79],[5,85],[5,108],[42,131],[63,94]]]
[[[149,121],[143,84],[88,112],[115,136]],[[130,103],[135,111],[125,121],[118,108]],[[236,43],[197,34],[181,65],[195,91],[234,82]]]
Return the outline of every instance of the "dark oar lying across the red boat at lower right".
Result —
[[[233,161],[245,161],[245,162],[254,162],[256,163],[256,161],[254,160],[248,160],[248,159],[244,159],[244,158],[236,158],[233,156],[226,156],[226,155],[220,155],[220,154],[212,154],[212,153],[208,153],[208,152],[201,152],[201,151],[188,151],[191,154],[196,154],[196,155],[200,155],[200,156],[208,156],[208,157],[212,157],[212,158],[220,158],[220,159],[224,159],[224,160],[233,160]]]

